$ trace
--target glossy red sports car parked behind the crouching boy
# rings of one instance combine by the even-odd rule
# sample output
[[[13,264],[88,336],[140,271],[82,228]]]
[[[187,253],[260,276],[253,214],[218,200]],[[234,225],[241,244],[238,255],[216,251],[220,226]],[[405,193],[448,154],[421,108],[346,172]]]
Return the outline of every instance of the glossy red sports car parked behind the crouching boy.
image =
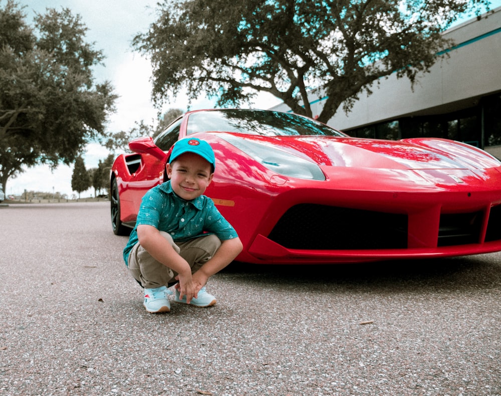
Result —
[[[501,250],[501,162],[439,138],[361,139],[265,110],[200,110],[155,140],[133,140],[111,173],[115,234],[166,180],[171,146],[206,140],[216,169],[205,194],[249,263],[353,263]]]

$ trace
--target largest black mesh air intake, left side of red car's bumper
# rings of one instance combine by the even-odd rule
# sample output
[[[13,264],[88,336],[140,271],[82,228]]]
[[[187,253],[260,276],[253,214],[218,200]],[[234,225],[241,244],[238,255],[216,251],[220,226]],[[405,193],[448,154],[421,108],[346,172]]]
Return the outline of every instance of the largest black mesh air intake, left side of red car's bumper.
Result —
[[[406,249],[407,215],[300,204],[268,238],[288,249]]]

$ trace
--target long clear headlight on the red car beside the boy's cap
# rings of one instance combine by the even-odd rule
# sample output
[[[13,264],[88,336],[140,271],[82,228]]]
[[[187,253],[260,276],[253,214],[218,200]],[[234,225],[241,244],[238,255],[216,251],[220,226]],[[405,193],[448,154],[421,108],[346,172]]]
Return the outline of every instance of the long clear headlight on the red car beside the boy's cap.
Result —
[[[276,173],[300,179],[325,180],[320,167],[307,159],[233,135],[220,137]]]

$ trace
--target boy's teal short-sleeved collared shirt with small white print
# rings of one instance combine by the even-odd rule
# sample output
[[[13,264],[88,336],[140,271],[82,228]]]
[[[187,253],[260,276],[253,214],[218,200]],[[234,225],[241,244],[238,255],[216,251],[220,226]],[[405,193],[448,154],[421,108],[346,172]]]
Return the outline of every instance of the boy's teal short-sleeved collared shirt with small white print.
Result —
[[[172,190],[170,180],[144,194],[136,227],[123,251],[127,266],[129,253],[139,242],[137,226],[143,224],[169,233],[174,242],[186,242],[208,234],[215,234],[221,241],[237,237],[234,228],[222,217],[209,197],[200,195],[194,200],[185,201]]]

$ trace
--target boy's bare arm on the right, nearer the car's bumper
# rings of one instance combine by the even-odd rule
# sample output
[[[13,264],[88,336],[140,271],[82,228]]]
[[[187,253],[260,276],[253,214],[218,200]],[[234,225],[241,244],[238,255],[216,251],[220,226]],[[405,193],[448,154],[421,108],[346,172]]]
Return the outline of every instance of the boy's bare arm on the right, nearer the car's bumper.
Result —
[[[210,260],[203,264],[200,269],[193,274],[193,282],[197,285],[197,292],[207,279],[215,273],[221,271],[242,251],[242,243],[239,238],[227,239],[221,242],[221,246]]]

